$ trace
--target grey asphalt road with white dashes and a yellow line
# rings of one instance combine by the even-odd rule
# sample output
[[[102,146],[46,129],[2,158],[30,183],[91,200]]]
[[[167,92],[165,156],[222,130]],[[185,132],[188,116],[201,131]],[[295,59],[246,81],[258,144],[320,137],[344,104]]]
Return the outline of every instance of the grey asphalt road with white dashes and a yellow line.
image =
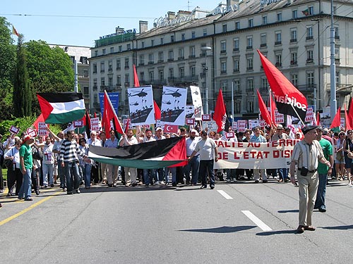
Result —
[[[0,197],[0,263],[352,263],[353,188],[330,182],[315,232],[296,234],[298,189],[270,180],[95,186]]]

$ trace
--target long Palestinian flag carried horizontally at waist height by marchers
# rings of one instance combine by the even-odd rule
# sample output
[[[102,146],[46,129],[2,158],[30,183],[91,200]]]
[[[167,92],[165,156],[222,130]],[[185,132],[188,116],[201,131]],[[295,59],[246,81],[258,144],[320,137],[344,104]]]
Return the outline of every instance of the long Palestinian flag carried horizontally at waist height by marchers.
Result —
[[[129,168],[157,169],[186,165],[185,137],[122,146],[117,149],[90,146],[92,160]]]

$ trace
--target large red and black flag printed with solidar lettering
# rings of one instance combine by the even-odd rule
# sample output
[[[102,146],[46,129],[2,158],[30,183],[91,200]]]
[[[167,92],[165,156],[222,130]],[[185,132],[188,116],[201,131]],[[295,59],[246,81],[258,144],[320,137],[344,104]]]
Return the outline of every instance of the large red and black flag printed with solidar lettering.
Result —
[[[278,112],[297,116],[304,123],[308,103],[299,90],[258,50],[263,70],[275,96]]]

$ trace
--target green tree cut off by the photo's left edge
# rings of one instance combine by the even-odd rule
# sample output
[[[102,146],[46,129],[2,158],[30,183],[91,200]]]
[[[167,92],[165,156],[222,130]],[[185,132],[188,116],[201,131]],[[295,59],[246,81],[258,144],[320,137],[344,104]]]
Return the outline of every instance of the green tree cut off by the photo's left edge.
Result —
[[[0,121],[11,118],[13,70],[16,46],[11,39],[10,24],[0,17]]]

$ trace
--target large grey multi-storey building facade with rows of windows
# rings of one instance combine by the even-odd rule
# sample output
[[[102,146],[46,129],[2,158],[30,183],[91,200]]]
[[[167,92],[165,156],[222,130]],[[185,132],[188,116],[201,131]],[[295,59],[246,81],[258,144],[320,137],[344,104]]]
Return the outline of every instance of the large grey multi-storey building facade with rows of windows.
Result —
[[[352,96],[352,11],[352,1],[333,2],[337,106]],[[90,108],[99,111],[105,89],[120,93],[118,114],[128,114],[135,64],[140,86],[152,85],[158,104],[163,85],[196,85],[210,111],[222,89],[229,116],[232,103],[234,118],[256,116],[256,90],[265,103],[269,95],[259,50],[321,111],[330,106],[330,12],[329,0],[227,1],[213,11],[168,12],[151,30],[144,21],[138,33],[117,27],[91,49]]]

